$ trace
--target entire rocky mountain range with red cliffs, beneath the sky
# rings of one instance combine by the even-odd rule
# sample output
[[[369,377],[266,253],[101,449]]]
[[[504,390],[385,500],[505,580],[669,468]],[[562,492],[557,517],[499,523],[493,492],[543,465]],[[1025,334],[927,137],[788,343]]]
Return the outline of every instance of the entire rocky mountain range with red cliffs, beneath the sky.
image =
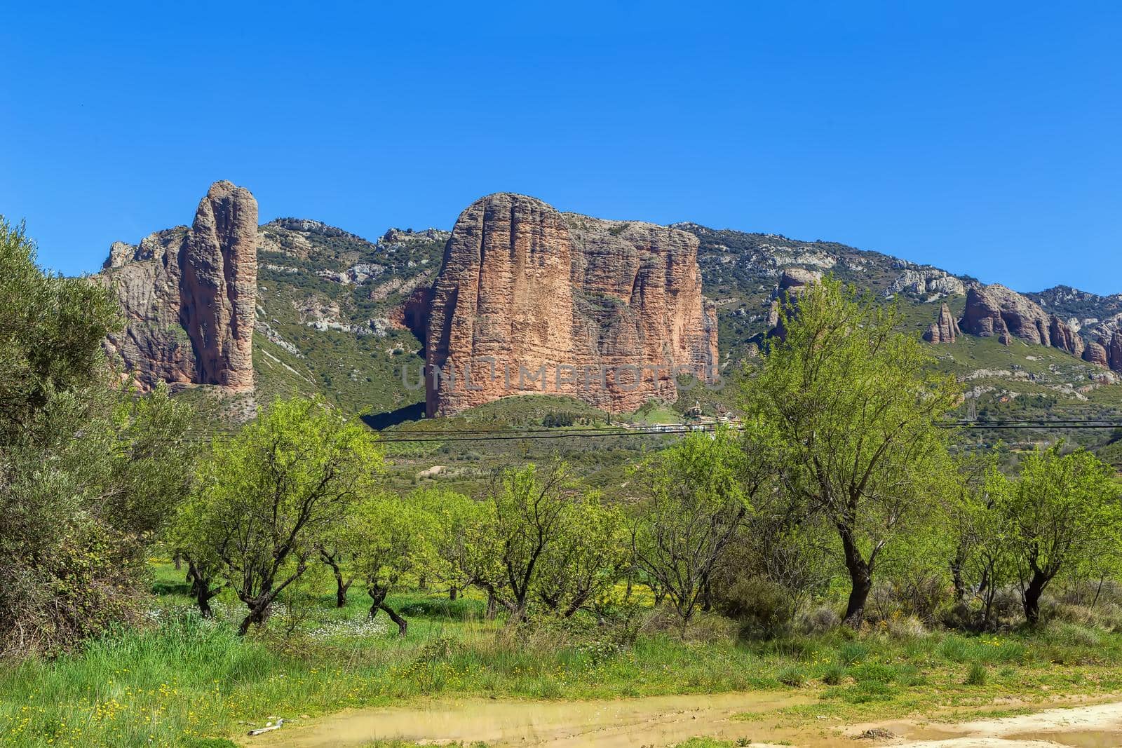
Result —
[[[145,387],[316,393],[392,423],[528,391],[516,368],[507,384],[504,360],[535,391],[607,410],[673,399],[674,378],[651,367],[716,363],[735,378],[774,332],[776,299],[825,274],[898,303],[978,412],[1122,413],[1122,386],[1110,386],[1122,372],[1122,295],[1019,294],[836,242],[607,221],[522,195],[477,201],[452,232],[367,240],[307,219],[257,225],[252,196],[215,183],[190,228],[114,243],[98,278],[128,321],[107,349]],[[480,364],[472,389],[426,393],[426,363],[463,385],[468,360]],[[548,368],[543,382],[542,363],[578,371]],[[600,367],[604,385],[591,377],[587,394],[579,370]],[[644,375],[634,387],[629,367]]]

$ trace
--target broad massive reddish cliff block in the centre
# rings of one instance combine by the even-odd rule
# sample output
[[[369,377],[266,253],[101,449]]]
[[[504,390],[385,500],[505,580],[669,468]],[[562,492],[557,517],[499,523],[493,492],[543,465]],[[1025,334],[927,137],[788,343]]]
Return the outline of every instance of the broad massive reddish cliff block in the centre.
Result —
[[[677,397],[675,367],[710,377],[717,323],[697,248],[684,231],[525,195],[476,201],[427,299],[429,415],[530,393],[633,410]]]

